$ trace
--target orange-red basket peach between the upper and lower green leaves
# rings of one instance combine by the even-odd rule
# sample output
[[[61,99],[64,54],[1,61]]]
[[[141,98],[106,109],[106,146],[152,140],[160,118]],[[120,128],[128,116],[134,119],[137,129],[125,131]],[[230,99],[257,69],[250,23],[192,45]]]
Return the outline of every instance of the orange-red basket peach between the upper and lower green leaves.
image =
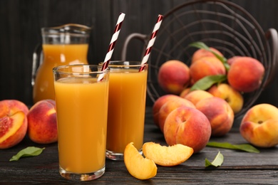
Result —
[[[190,65],[192,83],[207,75],[225,75],[226,69],[223,63],[215,57],[203,57]]]

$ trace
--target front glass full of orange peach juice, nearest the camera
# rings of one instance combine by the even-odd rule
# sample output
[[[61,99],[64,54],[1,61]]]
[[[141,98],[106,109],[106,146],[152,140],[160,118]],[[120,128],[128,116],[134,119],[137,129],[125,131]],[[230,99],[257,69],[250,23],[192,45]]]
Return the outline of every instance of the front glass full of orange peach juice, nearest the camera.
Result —
[[[59,172],[88,181],[105,172],[110,70],[99,65],[53,68]]]

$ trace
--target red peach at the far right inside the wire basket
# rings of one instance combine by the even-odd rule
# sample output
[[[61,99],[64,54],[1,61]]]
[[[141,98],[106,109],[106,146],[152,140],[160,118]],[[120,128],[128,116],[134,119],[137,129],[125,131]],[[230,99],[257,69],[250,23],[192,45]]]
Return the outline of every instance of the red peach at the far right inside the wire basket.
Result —
[[[250,93],[259,88],[263,75],[264,65],[257,59],[237,56],[230,65],[227,80],[235,90]]]

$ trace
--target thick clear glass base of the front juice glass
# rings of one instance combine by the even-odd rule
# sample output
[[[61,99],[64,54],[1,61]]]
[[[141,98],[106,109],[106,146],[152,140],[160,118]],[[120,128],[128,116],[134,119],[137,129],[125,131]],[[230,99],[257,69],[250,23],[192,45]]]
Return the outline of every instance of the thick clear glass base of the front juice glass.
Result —
[[[100,178],[104,174],[105,166],[98,171],[86,174],[76,174],[71,171],[66,171],[65,169],[62,169],[61,166],[59,166],[59,172],[61,176],[71,181],[91,181],[93,179]]]

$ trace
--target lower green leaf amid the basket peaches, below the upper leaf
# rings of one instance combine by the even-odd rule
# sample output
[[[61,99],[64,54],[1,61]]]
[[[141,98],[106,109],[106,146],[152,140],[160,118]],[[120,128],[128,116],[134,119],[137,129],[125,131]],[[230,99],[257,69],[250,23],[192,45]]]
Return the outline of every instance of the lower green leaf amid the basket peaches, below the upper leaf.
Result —
[[[227,80],[227,75],[208,75],[200,80],[197,80],[197,82],[192,85],[190,90],[207,90],[215,83],[221,83],[225,80]]]

